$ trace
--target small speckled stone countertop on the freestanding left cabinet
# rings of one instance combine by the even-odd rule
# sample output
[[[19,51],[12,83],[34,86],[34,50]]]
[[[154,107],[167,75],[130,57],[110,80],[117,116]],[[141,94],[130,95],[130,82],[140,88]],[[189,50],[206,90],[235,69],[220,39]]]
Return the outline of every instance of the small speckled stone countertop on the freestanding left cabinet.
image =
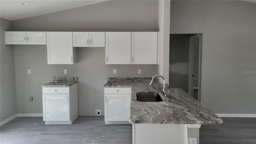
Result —
[[[53,81],[60,80],[60,82],[49,82],[42,84],[42,87],[69,87],[78,82],[77,77],[53,77]]]

